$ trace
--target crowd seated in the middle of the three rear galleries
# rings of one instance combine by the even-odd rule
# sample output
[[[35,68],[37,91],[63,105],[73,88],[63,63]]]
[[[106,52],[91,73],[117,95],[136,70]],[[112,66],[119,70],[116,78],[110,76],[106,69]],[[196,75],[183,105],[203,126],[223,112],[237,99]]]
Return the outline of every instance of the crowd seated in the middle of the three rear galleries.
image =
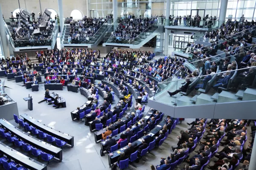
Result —
[[[96,19],[86,16],[82,20],[70,21],[68,43],[88,42],[89,37],[92,37],[105,22],[104,18]]]

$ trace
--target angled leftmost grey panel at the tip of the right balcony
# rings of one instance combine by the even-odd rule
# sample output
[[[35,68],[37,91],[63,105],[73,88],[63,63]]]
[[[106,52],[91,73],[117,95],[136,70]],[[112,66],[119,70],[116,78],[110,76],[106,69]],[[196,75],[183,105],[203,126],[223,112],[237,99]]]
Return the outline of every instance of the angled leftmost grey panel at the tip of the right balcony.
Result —
[[[175,107],[172,107],[170,105],[166,105],[164,103],[160,103],[160,102],[157,102],[157,101],[154,101],[154,100],[150,100],[150,99],[148,99],[148,105],[151,108],[156,109],[157,111],[163,112],[166,115],[174,117]]]

